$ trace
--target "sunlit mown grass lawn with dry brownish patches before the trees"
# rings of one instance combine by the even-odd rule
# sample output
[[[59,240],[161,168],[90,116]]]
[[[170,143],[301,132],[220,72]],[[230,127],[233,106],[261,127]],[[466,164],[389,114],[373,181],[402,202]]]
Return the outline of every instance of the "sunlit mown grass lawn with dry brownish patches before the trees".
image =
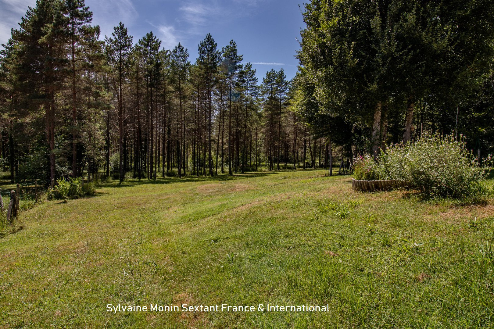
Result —
[[[494,326],[494,206],[352,191],[324,170],[108,183],[0,239],[0,328]],[[118,305],[326,305],[125,312]]]

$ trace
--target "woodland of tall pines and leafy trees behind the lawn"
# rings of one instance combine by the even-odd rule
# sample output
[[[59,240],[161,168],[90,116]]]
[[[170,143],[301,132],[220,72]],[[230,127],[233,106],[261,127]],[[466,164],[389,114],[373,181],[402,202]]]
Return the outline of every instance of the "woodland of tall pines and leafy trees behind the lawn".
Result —
[[[38,0],[0,57],[1,166],[14,181],[156,180],[349,165],[423,133],[494,148],[491,1],[310,1],[297,75],[262,81],[210,34],[194,63],[83,0]],[[240,41],[241,42],[241,41]]]

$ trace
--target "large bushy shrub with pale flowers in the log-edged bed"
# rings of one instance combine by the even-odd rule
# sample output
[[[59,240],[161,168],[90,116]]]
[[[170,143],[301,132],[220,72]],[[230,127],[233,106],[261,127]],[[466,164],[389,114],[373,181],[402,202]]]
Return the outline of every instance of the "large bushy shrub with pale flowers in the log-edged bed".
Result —
[[[455,140],[453,135],[435,134],[406,145],[392,144],[377,160],[377,164],[369,165],[375,179],[404,180],[428,197],[484,203],[490,194],[484,180],[492,157],[479,166],[463,136]]]

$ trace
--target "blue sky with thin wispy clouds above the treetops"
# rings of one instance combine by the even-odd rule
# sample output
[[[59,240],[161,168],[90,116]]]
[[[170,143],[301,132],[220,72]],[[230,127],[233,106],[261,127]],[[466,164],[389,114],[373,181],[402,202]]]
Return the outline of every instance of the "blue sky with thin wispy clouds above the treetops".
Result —
[[[35,0],[0,0],[0,43],[10,37],[21,16]],[[93,24],[101,27],[102,38],[110,35],[119,21],[134,42],[153,31],[162,47],[181,42],[189,49],[191,62],[197,45],[209,32],[218,47],[233,39],[245,62],[257,69],[262,82],[266,71],[283,68],[287,78],[296,73],[297,38],[303,27],[299,4],[302,0],[86,0],[93,11]],[[257,63],[257,64],[254,64]]]

